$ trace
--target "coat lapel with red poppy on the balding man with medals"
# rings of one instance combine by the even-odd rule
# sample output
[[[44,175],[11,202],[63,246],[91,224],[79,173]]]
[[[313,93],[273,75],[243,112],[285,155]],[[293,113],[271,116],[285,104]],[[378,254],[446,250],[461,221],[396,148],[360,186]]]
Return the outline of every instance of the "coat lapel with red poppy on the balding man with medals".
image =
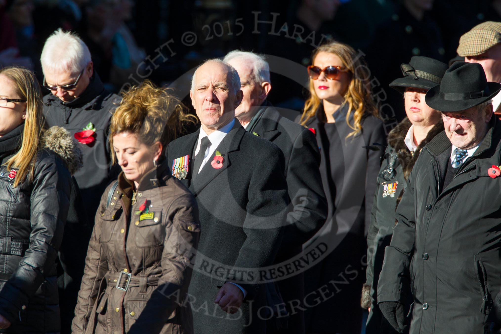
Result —
[[[195,182],[190,182],[188,189],[193,193],[193,195],[198,195],[203,188],[205,188],[210,182],[212,182],[217,175],[222,173],[231,165],[231,152],[237,151],[240,140],[245,134],[245,129],[243,129],[236,121],[235,127],[231,129],[224,139],[219,143],[215,151],[219,151],[222,155],[223,161],[220,168],[214,168],[212,166],[212,161],[215,156],[215,151],[212,153],[210,159],[203,165],[202,170],[197,175]],[[197,137],[198,138],[198,137]]]

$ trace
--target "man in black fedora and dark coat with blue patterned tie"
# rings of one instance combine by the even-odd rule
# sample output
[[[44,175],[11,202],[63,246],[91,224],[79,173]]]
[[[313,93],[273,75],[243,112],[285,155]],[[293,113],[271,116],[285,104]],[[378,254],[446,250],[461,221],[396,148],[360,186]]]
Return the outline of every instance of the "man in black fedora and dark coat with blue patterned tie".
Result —
[[[378,306],[398,332],[495,329],[501,124],[490,100],[500,90],[487,82],[481,65],[455,62],[426,93],[445,131],[422,149],[407,180],[378,281]],[[413,307],[406,323],[409,286]]]

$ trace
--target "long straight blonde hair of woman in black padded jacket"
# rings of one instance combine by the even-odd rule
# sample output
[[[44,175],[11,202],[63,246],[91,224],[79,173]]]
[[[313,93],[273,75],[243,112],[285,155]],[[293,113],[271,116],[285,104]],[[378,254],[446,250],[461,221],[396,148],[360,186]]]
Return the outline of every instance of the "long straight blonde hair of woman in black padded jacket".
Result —
[[[42,93],[37,78],[28,69],[17,66],[5,67],[0,70],[0,75],[12,80],[17,86],[18,95],[26,100],[26,119],[21,134],[21,148],[5,164],[7,169],[18,169],[13,184],[17,187],[26,178],[33,181],[35,177],[35,159],[40,148],[44,124]]]

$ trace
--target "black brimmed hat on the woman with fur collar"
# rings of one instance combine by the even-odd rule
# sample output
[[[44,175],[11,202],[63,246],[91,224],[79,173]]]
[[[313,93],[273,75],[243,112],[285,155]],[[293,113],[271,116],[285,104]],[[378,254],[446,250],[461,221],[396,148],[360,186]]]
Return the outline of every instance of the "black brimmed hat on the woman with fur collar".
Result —
[[[447,64],[436,59],[414,56],[409,64],[400,65],[404,77],[393,80],[390,87],[402,94],[406,87],[430,89],[440,84],[447,68]]]

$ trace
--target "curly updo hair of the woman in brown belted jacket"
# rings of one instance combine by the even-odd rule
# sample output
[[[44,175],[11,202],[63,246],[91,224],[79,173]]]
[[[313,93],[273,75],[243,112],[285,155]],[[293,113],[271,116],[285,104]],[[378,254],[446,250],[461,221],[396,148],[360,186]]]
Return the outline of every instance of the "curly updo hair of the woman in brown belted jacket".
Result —
[[[165,149],[186,129],[187,124],[196,122],[196,117],[187,113],[187,108],[170,89],[156,87],[146,80],[123,93],[122,102],[110,121],[110,147],[113,147],[113,136],[130,132],[146,145],[160,142]],[[113,150],[111,160],[113,163],[116,161]]]

